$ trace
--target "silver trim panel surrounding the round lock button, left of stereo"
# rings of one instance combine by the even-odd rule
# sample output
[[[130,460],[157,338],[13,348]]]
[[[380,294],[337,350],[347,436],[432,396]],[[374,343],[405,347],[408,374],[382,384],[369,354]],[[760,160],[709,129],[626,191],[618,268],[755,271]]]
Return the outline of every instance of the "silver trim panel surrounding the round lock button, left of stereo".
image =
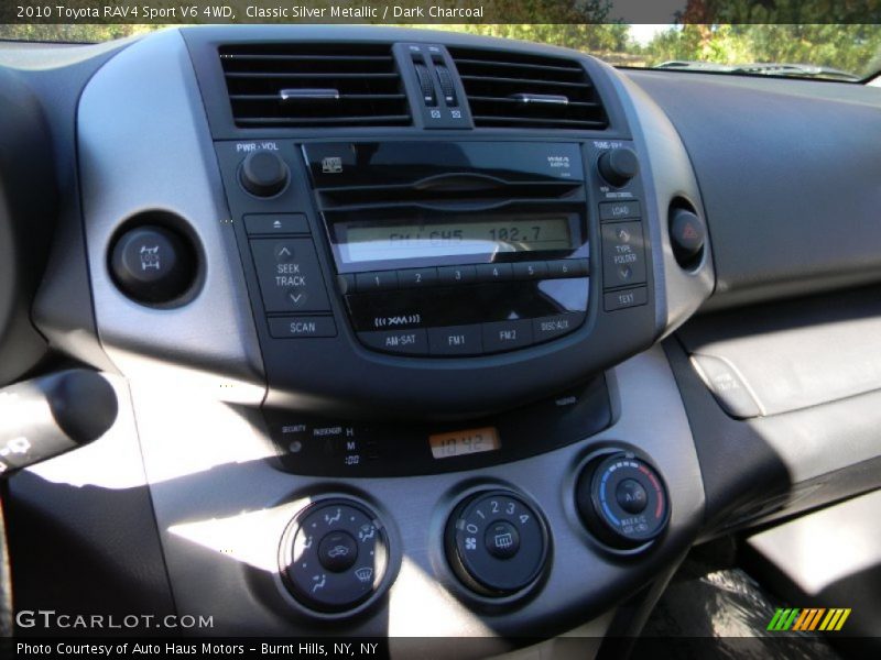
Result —
[[[129,46],[95,75],[80,101],[78,140],[95,316],[110,359],[129,377],[195,387],[222,400],[262,402],[263,365],[244,277],[178,31]],[[180,216],[206,262],[200,290],[175,309],[128,299],[107,268],[115,233],[151,209]]]

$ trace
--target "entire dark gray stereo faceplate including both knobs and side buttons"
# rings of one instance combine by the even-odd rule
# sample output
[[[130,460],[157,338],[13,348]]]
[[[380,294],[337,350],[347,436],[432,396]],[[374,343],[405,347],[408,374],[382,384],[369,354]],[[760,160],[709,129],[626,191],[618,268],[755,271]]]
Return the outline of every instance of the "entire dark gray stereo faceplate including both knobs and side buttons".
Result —
[[[215,143],[268,407],[480,417],[651,344],[633,143],[502,134]]]

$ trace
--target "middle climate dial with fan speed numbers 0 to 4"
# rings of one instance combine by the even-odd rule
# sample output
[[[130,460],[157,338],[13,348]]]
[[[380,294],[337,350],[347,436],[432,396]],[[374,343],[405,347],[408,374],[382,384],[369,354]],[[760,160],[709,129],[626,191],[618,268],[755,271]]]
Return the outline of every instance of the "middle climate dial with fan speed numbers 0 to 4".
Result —
[[[510,491],[478,493],[449,518],[447,558],[456,575],[483,596],[507,596],[534,583],[547,558],[544,521]]]

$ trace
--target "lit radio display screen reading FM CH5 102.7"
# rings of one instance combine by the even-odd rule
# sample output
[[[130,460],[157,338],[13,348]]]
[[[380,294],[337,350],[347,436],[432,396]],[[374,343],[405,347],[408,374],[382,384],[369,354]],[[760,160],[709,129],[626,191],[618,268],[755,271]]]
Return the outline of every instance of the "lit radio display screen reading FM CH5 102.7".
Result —
[[[341,222],[336,227],[340,254],[346,263],[401,258],[435,258],[573,250],[567,215],[513,217],[481,216],[432,223]]]

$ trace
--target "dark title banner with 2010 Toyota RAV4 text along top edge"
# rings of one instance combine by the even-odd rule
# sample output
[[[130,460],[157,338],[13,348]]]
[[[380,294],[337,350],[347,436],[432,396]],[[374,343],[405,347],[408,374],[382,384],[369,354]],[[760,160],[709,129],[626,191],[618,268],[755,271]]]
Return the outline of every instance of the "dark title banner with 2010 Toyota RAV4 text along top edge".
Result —
[[[7,24],[878,24],[881,0],[3,0]]]

